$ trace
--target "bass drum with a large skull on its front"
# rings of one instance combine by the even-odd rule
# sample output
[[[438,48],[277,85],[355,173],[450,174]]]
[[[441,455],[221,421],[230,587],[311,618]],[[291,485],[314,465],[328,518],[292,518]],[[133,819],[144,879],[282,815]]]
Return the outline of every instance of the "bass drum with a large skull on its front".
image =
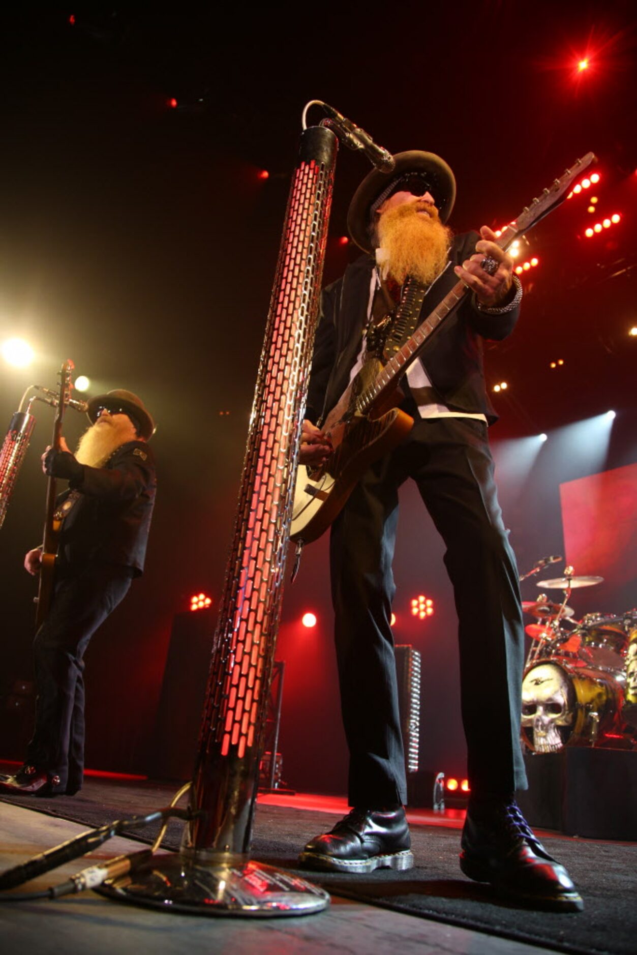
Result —
[[[533,753],[604,745],[619,722],[620,696],[610,673],[563,657],[542,660],[522,680],[522,743]]]

